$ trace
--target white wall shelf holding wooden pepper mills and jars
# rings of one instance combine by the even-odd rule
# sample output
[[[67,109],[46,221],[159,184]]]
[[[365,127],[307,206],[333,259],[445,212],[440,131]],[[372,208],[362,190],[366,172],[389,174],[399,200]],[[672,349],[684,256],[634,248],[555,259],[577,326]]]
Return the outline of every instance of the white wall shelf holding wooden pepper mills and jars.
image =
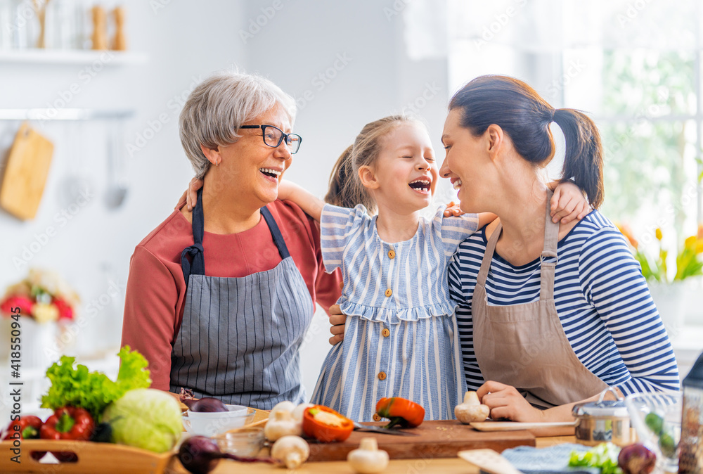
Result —
[[[105,56],[108,55],[108,56]],[[105,66],[140,65],[148,61],[146,53],[133,51],[93,51],[82,49],[22,49],[0,51],[0,64],[56,64]]]

